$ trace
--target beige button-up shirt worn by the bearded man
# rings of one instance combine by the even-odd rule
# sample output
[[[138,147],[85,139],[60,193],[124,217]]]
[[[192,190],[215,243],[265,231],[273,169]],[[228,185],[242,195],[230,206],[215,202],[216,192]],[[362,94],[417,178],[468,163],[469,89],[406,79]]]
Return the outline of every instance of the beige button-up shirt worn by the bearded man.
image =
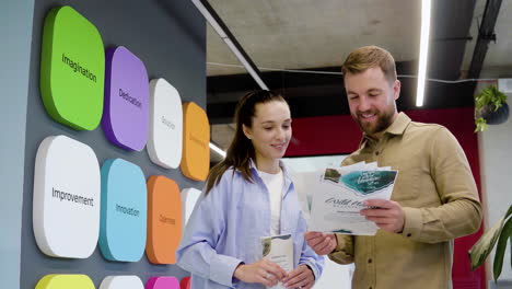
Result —
[[[400,113],[381,140],[363,137],[342,165],[361,161],[398,170],[392,200],[405,211],[404,231],[337,234],[330,259],[356,264],[353,289],[452,288],[453,239],[481,222],[475,180],[455,137]]]

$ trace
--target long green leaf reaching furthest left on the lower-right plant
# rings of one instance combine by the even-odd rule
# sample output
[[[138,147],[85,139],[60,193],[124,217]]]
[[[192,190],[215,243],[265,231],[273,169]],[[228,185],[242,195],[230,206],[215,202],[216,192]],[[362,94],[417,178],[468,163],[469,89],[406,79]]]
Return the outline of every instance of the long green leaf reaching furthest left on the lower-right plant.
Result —
[[[481,266],[481,264],[484,264],[484,262],[486,261],[487,256],[489,256],[489,253],[492,251],[492,248],[496,245],[496,242],[498,241],[498,238],[500,236],[504,221],[509,218],[511,213],[512,206],[510,206],[507,213],[501,219],[499,219],[494,223],[494,226],[487,230],[480,236],[478,242],[475,245],[473,245],[473,247],[469,250],[468,254],[472,263],[472,270]]]

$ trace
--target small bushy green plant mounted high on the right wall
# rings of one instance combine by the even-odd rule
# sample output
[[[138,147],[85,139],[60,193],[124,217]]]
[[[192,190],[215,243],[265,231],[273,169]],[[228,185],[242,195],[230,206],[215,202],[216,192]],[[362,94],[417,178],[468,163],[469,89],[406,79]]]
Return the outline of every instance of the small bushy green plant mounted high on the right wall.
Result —
[[[487,125],[502,124],[508,118],[507,94],[496,85],[489,85],[475,95],[475,132],[486,130]]]

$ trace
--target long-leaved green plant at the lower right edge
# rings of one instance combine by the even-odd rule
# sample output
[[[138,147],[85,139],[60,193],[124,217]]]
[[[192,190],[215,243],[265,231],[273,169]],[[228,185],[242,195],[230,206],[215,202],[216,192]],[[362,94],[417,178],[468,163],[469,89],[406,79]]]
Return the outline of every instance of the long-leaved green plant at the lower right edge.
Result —
[[[487,230],[469,250],[468,254],[472,263],[472,270],[484,264],[489,253],[494,248],[494,245],[498,244],[496,246],[494,262],[492,264],[494,282],[498,281],[501,269],[503,268],[503,257],[508,242],[510,242],[512,248],[512,205],[507,213],[499,219],[494,226]]]

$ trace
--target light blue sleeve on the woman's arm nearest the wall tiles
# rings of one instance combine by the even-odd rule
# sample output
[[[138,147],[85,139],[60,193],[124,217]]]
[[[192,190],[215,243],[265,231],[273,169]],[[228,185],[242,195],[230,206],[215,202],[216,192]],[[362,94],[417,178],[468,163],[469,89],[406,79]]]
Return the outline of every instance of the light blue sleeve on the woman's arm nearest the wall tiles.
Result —
[[[242,263],[214,250],[225,230],[226,194],[230,187],[223,177],[210,193],[205,192],[196,205],[179,243],[177,265],[202,278],[233,287],[233,274]]]

